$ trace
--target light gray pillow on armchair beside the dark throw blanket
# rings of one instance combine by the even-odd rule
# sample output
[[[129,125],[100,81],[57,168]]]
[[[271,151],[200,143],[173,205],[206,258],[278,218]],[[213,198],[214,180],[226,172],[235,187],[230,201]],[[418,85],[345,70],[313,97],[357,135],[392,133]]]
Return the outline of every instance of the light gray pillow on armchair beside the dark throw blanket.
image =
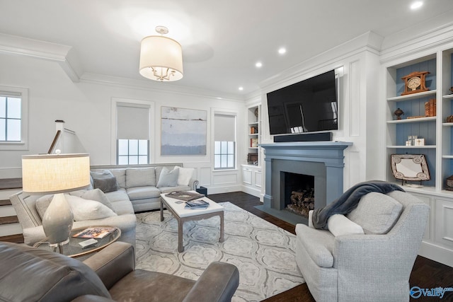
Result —
[[[403,205],[389,195],[371,192],[360,199],[348,219],[362,226],[365,234],[385,234],[398,220]]]

